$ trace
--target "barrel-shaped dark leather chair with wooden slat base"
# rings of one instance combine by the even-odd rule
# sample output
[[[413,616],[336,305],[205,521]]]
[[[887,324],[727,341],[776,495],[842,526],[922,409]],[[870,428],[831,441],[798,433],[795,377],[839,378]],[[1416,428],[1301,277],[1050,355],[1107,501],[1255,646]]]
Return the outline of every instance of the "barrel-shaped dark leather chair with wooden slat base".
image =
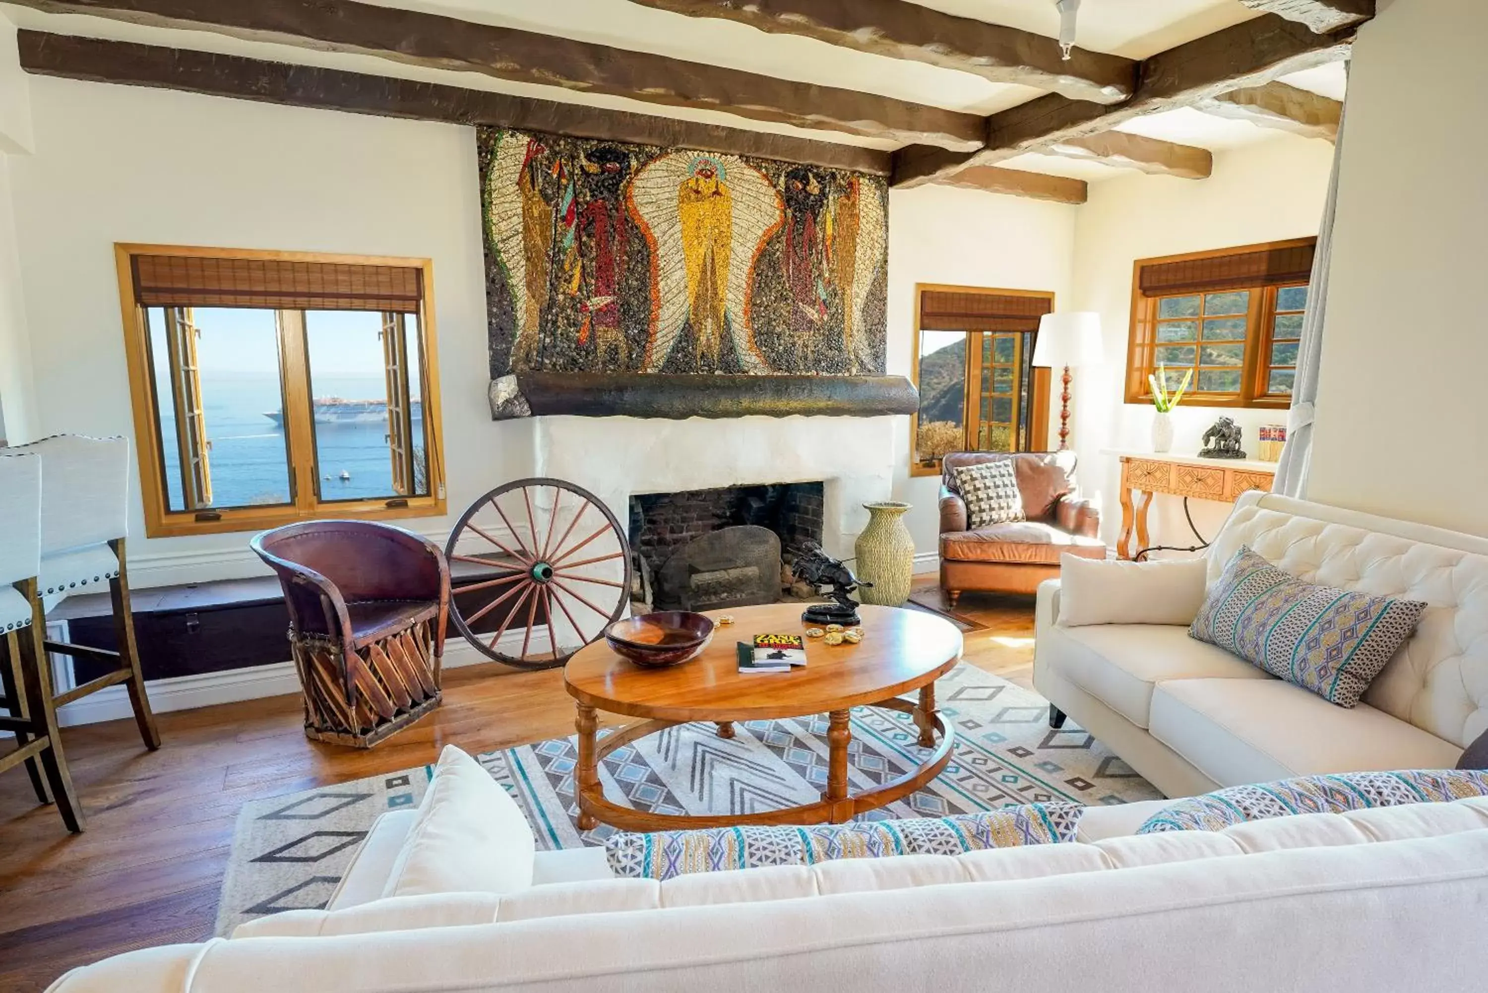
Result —
[[[284,587],[305,734],[372,747],[439,706],[449,566],[372,521],[289,524],[251,542]]]

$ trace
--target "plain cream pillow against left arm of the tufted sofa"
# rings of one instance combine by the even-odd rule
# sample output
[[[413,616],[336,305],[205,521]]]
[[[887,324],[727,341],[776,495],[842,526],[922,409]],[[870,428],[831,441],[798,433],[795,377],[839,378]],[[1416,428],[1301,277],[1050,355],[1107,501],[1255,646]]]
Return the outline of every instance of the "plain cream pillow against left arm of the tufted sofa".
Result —
[[[1192,624],[1204,606],[1202,558],[1059,557],[1059,624]]]

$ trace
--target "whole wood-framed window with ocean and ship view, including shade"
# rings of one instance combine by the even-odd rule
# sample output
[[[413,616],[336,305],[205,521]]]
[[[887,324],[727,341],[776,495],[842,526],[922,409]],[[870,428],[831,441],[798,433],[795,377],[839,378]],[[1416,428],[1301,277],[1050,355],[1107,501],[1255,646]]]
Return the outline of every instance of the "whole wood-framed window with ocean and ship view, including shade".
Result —
[[[427,259],[116,256],[147,534],[445,512]]]

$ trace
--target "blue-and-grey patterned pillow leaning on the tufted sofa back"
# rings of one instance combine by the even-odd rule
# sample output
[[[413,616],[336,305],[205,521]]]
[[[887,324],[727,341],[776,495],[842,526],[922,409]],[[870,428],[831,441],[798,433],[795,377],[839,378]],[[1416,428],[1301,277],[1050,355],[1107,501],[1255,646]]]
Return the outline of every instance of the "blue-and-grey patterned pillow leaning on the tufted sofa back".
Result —
[[[1189,636],[1339,707],[1354,707],[1426,604],[1302,582],[1241,546]]]

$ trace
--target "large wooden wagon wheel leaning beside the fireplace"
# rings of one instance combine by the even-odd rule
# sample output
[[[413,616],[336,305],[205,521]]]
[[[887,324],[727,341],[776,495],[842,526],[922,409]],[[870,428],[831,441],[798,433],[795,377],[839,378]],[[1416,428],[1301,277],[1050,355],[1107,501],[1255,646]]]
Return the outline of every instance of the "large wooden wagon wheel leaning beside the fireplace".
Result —
[[[449,533],[449,618],[484,655],[562,665],[620,618],[631,548],[604,503],[562,479],[518,479],[470,505]]]

